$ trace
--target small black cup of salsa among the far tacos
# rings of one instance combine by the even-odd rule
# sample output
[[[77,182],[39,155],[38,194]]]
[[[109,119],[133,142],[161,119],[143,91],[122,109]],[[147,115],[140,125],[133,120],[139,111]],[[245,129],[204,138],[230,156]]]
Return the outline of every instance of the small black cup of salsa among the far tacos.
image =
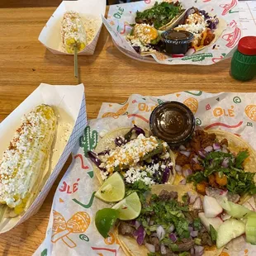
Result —
[[[164,31],[161,34],[164,41],[165,51],[167,54],[183,54],[185,55],[194,35],[188,31]]]

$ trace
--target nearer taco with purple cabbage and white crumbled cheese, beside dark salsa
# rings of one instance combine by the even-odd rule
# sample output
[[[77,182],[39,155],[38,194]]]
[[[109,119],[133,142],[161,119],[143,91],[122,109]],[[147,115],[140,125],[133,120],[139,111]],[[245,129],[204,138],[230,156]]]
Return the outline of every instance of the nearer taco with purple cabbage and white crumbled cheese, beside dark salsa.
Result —
[[[111,131],[88,157],[101,184],[115,172],[126,184],[141,180],[151,186],[173,183],[175,178],[174,154],[168,144],[138,126]]]

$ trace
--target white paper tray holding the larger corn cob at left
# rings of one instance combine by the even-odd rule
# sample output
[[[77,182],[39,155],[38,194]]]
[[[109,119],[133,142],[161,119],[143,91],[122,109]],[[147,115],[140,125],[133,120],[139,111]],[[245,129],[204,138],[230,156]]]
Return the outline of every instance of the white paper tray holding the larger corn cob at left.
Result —
[[[86,126],[87,116],[83,84],[78,86],[52,86],[41,83],[19,107],[2,121],[0,125],[1,156],[10,145],[15,131],[21,125],[21,117],[40,104],[53,107],[58,121],[55,142],[51,150],[50,167],[45,168],[43,178],[38,181],[40,192],[31,206],[21,216],[2,220],[0,233],[11,230],[36,214]]]

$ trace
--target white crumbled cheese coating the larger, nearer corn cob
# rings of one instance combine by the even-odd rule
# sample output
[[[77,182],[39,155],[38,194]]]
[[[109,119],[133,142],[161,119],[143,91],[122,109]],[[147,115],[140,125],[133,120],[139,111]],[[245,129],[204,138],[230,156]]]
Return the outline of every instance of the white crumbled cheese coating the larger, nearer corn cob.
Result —
[[[0,160],[0,202],[6,202],[12,208],[26,197],[30,177],[33,175],[30,170],[37,155],[36,147],[42,143],[41,135],[44,130],[52,128],[46,126],[51,120],[45,118],[44,110],[40,107],[36,107],[21,119],[21,126]],[[53,126],[53,122],[50,126]],[[34,148],[31,149],[31,146]],[[34,154],[31,154],[31,150]]]

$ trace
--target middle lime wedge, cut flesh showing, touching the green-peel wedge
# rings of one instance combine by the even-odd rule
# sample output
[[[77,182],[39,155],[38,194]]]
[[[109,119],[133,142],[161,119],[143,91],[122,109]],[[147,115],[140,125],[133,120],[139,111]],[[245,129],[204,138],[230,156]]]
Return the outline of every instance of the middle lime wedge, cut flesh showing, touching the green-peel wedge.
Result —
[[[112,209],[119,211],[118,218],[120,220],[134,220],[140,215],[140,198],[136,192],[133,192],[128,197],[113,206]]]

